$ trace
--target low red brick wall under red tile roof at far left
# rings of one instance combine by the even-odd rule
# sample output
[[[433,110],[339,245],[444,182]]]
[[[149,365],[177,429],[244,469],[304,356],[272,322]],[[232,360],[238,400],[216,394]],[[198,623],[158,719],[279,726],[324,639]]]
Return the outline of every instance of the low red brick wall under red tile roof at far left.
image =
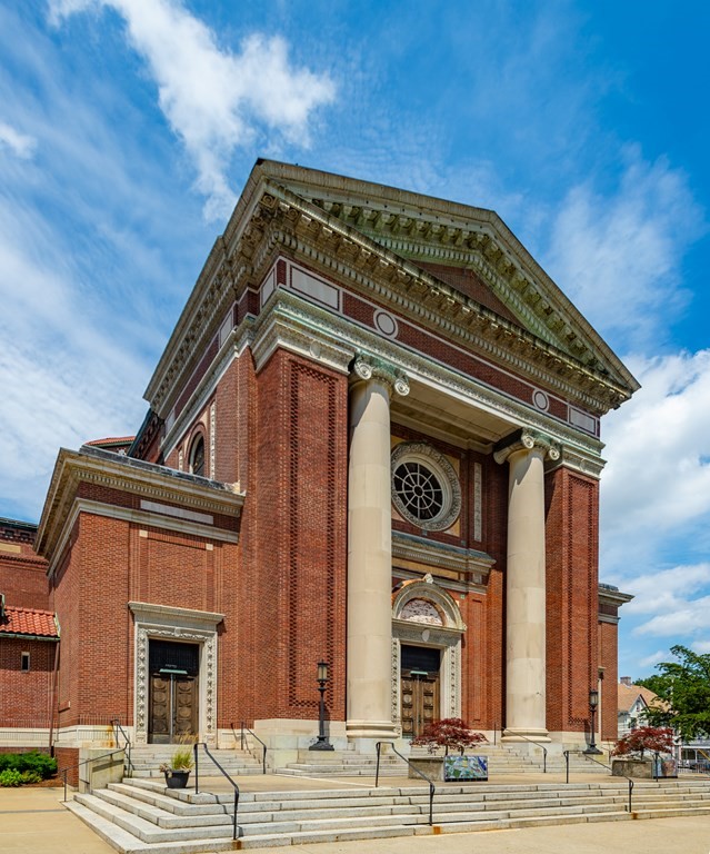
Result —
[[[49,726],[56,647],[49,640],[0,637],[2,726]],[[21,671],[22,653],[30,654],[28,672]]]

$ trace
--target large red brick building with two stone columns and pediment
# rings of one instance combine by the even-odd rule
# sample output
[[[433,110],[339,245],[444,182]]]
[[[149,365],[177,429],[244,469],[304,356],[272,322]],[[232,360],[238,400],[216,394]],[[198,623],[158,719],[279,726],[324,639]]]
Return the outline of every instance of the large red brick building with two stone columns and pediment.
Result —
[[[320,661],[337,747],[449,716],[580,744],[591,689],[613,738],[600,418],[637,388],[492,211],[258,161],[137,436],[60,450],[41,589],[0,552],[61,627],[57,744],[244,721],[278,764]]]

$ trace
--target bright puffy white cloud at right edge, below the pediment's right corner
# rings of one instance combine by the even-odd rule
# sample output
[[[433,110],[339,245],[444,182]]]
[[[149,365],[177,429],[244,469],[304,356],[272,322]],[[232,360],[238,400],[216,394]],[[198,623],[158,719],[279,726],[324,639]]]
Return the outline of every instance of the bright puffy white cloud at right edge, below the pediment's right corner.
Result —
[[[710,350],[637,358],[631,367],[641,389],[604,419],[608,567],[648,559],[710,514]]]

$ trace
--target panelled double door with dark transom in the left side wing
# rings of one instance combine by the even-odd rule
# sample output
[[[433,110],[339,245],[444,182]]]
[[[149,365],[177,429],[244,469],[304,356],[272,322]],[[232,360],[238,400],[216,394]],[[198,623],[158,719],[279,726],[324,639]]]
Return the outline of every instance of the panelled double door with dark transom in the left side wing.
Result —
[[[186,744],[197,739],[199,653],[197,644],[150,642],[149,743]]]

